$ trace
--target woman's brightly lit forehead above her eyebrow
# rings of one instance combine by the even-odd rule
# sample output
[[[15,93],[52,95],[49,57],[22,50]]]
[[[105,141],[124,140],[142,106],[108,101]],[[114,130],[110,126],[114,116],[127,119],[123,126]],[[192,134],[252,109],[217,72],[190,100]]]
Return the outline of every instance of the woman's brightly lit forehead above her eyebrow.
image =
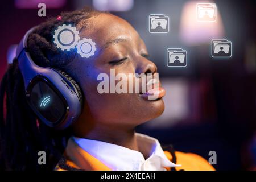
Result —
[[[86,24],[86,28],[80,30],[80,36],[92,39],[98,47],[115,39],[139,39],[137,31],[126,20],[112,14],[93,16],[86,20]],[[78,28],[80,26],[77,25]]]

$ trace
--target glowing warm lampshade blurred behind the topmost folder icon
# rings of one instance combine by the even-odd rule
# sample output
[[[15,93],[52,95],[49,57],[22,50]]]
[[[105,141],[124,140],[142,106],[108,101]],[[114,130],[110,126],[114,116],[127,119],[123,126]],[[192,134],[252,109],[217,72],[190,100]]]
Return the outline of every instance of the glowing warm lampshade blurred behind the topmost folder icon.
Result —
[[[185,3],[181,14],[180,39],[186,46],[197,46],[200,44],[209,44],[212,39],[223,38],[224,27],[222,24],[218,6],[215,22],[199,22],[197,20],[197,3],[202,1],[189,1]],[[213,3],[204,1],[203,3]]]

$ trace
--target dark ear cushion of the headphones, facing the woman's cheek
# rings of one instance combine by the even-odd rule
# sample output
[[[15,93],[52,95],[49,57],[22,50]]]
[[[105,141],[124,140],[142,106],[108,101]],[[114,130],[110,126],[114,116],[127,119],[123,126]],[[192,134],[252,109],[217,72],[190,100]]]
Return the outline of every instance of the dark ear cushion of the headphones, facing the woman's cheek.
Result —
[[[61,77],[64,78],[64,80],[67,82],[67,84],[69,86],[71,86],[71,88],[75,91],[75,93],[79,97],[80,103],[82,105],[83,94],[82,94],[82,90],[81,90],[79,84],[77,84],[77,82],[75,80],[73,80],[73,78],[71,76],[69,76],[66,72],[62,71],[61,69],[57,69],[57,71],[60,73]]]

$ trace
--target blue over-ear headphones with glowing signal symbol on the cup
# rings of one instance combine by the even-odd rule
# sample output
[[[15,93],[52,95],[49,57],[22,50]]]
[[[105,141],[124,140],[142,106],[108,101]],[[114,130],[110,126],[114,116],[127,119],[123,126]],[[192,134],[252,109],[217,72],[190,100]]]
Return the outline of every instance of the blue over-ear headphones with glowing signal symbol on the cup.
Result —
[[[26,98],[40,121],[50,127],[65,129],[79,117],[82,110],[82,91],[67,73],[39,67],[27,48],[31,28],[16,49],[16,58],[24,80]]]

